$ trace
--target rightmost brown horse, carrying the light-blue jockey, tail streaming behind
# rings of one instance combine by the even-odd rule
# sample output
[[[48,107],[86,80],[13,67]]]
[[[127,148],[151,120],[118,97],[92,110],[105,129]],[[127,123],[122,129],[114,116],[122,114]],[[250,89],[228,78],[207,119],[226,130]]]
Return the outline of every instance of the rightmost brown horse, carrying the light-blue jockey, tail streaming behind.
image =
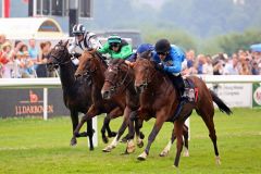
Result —
[[[145,160],[149,154],[150,146],[161,129],[164,122],[173,122],[173,115],[178,105],[177,91],[165,73],[157,71],[154,63],[147,59],[138,59],[134,65],[135,86],[140,91],[140,108],[138,115],[140,120],[149,120],[154,115],[156,123],[148,137],[148,145],[145,151],[138,157]],[[211,90],[209,90],[204,82],[196,76],[187,77],[196,88],[198,88],[198,99],[184,105],[178,119],[174,122],[176,136],[176,157],[174,165],[177,167],[181,152],[183,149],[183,125],[185,120],[191,114],[192,109],[202,117],[209,129],[209,136],[214,146],[216,162],[220,163],[219,150],[216,145],[216,135],[214,128],[214,107],[213,101],[221,111],[231,114],[229,108]]]

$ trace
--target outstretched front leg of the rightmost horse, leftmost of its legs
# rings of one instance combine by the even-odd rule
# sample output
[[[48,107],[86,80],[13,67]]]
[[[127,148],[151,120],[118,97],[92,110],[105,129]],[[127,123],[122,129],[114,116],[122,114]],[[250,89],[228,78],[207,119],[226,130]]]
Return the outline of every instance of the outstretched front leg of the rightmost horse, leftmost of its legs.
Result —
[[[157,119],[156,119],[154,126],[153,126],[153,128],[152,128],[152,130],[151,130],[151,133],[148,137],[148,144],[146,146],[145,151],[141,154],[139,154],[138,160],[144,161],[148,157],[151,144],[153,142],[156,136],[158,135],[158,133],[160,132],[163,123],[166,120],[165,115],[166,114],[163,111],[160,111],[160,112],[157,113]]]

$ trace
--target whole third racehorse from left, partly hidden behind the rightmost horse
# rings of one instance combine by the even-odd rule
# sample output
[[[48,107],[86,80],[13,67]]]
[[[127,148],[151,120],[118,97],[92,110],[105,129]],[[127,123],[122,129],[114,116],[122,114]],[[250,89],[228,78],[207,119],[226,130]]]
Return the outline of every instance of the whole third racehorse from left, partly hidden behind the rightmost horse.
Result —
[[[138,147],[141,147],[141,140],[139,138],[139,132],[138,128],[140,128],[139,123],[137,122],[137,110],[139,108],[139,94],[135,90],[134,85],[135,76],[134,76],[134,70],[125,63],[122,59],[116,59],[110,62],[109,69],[105,71],[105,80],[101,90],[103,98],[111,98],[114,95],[125,92],[126,94],[126,108],[125,110],[130,110],[130,120],[136,121],[136,138]],[[186,147],[186,156],[188,156],[188,127],[184,125],[183,128],[184,132],[184,140],[185,140],[185,147]],[[121,137],[121,134],[117,134],[115,137],[116,139],[112,141],[111,145],[109,145],[104,150],[111,150],[114,148]],[[130,130],[128,139],[134,138],[134,133]],[[164,148],[164,150],[160,153],[161,157],[167,156],[170,151],[170,146],[175,140],[175,136],[172,136],[171,142],[167,144],[167,146]],[[127,150],[133,148],[132,144],[128,144]]]

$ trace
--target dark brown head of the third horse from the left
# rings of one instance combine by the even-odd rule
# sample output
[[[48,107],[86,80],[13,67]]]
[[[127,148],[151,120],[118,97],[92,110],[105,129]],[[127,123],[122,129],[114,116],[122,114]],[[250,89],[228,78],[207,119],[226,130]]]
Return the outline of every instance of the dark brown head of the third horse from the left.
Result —
[[[101,89],[104,99],[110,99],[127,80],[130,67],[122,59],[112,60],[105,71],[105,79]]]

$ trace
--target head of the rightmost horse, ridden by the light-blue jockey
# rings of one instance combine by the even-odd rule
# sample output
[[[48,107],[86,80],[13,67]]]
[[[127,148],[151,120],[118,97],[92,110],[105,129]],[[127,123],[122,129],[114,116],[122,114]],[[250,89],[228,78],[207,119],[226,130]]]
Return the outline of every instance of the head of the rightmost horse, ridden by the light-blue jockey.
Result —
[[[150,57],[142,55],[136,60],[134,74],[135,89],[137,92],[142,92],[152,82],[153,75],[156,74],[154,63],[150,60]]]

